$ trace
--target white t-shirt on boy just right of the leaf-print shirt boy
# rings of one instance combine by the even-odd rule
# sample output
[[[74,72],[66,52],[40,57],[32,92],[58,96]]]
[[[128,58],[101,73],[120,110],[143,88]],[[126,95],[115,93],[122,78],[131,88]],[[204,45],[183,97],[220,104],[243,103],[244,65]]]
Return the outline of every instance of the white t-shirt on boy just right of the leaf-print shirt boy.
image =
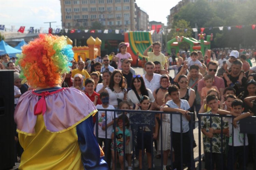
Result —
[[[242,113],[242,114],[244,114],[244,113]],[[226,120],[228,121],[228,126],[229,126],[228,145],[232,146],[232,129],[233,129],[232,118],[228,117],[228,118],[226,118]],[[245,134],[245,146],[247,146],[247,145],[248,145],[248,138],[247,138],[247,134]],[[239,121],[237,121],[237,128],[234,128],[234,147],[238,147],[238,146],[244,146],[244,134],[240,133]]]

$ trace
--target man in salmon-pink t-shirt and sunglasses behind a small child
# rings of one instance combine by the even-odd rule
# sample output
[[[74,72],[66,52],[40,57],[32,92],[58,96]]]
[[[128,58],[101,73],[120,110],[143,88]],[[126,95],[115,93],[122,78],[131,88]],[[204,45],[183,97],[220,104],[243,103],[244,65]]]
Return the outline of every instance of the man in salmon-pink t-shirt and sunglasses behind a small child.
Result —
[[[207,64],[207,71],[208,74],[214,76],[214,82],[213,82],[213,86],[216,86],[219,90],[219,92],[221,93],[221,96],[223,95],[224,89],[225,89],[225,84],[224,84],[224,80],[218,76],[215,76],[216,72],[217,72],[217,68],[218,68],[218,64],[216,62],[210,61]],[[204,79],[201,79],[200,81],[198,81],[198,92],[201,96],[201,92],[202,92],[202,88],[205,87],[204,84]]]

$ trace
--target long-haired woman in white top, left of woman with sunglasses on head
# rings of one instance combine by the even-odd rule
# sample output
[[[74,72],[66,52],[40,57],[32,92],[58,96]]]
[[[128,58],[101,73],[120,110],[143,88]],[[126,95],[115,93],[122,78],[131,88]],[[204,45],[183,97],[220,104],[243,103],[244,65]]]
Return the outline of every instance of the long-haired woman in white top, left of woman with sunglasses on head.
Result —
[[[126,89],[123,84],[123,74],[120,70],[114,70],[110,77],[109,87],[105,92],[109,93],[109,104],[118,108],[118,104],[126,100]]]

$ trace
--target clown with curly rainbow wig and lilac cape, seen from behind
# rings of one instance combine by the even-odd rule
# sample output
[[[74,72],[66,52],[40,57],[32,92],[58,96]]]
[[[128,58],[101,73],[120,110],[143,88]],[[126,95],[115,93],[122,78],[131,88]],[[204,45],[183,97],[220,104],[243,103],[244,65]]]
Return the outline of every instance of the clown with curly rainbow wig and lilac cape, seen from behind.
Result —
[[[40,34],[18,56],[20,78],[34,88],[14,113],[24,149],[19,169],[108,169],[93,131],[96,107],[80,90],[61,88],[74,55],[66,39]]]

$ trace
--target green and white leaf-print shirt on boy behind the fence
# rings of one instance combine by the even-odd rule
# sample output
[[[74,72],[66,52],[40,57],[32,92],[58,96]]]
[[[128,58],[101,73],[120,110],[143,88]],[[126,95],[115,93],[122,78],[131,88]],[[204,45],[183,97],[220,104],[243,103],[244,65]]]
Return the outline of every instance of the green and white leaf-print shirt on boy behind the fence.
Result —
[[[212,111],[208,111],[204,113],[207,114],[213,114]],[[206,132],[209,132],[210,128],[210,118],[212,119],[212,128],[214,130],[221,130],[221,117],[210,117],[210,116],[202,116],[201,117],[201,129],[205,129]],[[228,128],[228,122],[223,119],[223,129]],[[223,134],[223,138],[221,138],[220,133],[214,133],[212,138],[212,152],[213,153],[221,153],[221,139],[223,139],[223,151],[225,153],[225,134]],[[210,139],[206,135],[203,136],[203,146],[204,146],[204,152],[211,152],[210,150]]]

